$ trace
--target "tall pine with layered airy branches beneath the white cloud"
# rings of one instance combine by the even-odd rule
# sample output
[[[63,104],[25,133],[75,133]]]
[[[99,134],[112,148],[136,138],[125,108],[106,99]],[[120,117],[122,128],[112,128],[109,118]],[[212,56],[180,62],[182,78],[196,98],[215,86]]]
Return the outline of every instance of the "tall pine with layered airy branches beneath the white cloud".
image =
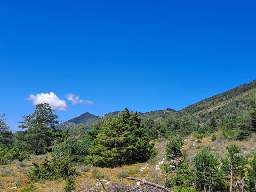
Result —
[[[17,133],[16,145],[36,154],[47,152],[55,139],[55,124],[59,123],[54,111],[48,103],[43,103],[36,105],[36,110],[31,115],[22,116],[24,120],[19,122],[19,127],[26,130]]]

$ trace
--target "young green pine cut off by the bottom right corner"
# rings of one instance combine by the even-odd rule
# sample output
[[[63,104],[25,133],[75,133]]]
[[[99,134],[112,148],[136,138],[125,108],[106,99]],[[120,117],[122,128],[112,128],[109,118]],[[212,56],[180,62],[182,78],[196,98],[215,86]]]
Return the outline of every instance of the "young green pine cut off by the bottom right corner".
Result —
[[[251,192],[256,192],[256,154],[254,154],[252,160],[250,161],[250,167],[247,168],[248,172],[248,189]]]

